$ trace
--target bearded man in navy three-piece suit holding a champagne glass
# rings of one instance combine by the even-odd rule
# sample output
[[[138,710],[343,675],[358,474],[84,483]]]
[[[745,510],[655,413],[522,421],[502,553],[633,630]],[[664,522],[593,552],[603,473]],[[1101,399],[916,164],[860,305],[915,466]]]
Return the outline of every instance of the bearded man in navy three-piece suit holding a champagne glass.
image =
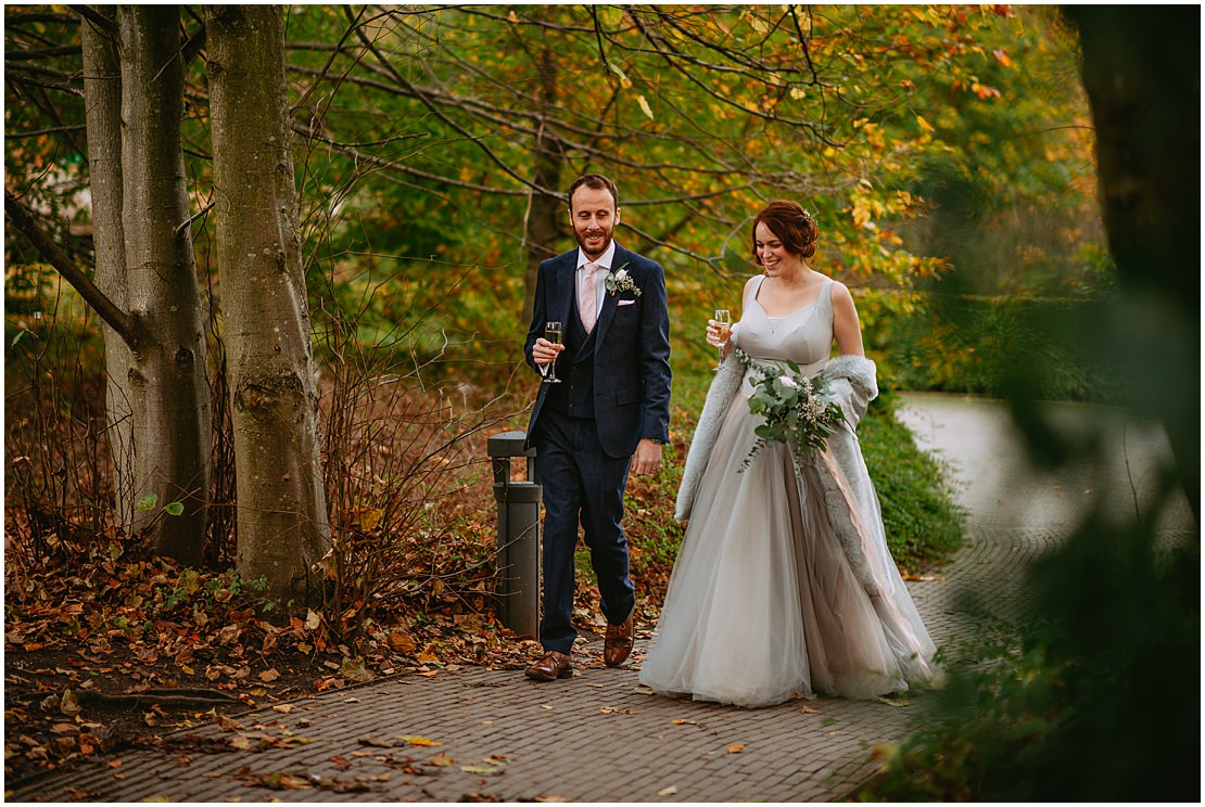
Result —
[[[636,597],[621,525],[623,496],[629,469],[657,471],[669,440],[665,273],[615,242],[619,193],[606,177],[588,173],[570,185],[569,218],[578,248],[540,264],[524,348],[545,378],[559,355],[553,370],[560,382],[540,384],[528,426],[545,507],[545,656],[527,670],[536,681],[574,675],[578,520],[607,620],[602,660],[616,667],[631,652]],[[543,338],[549,320],[562,323],[563,344]]]

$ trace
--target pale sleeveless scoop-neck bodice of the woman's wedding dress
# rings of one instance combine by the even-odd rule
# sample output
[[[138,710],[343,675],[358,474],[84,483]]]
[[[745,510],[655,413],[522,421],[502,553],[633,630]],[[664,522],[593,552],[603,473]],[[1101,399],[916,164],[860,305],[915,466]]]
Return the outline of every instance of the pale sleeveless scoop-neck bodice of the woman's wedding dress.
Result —
[[[833,351],[833,281],[821,287],[816,302],[784,317],[770,317],[758,301],[765,276],[760,276],[745,301],[741,320],[734,329],[736,343],[750,357],[762,361],[794,361],[804,376],[824,369]],[[745,395],[753,394],[750,371],[741,384]]]

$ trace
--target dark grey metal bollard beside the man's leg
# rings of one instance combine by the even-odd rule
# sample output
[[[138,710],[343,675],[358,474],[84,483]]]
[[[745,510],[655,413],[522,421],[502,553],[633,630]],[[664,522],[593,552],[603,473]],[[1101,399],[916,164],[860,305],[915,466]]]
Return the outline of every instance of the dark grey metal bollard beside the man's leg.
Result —
[[[540,500],[543,488],[527,432],[487,441],[498,502],[498,595],[502,625],[519,636],[540,635]],[[511,481],[511,458],[527,458],[527,481]]]

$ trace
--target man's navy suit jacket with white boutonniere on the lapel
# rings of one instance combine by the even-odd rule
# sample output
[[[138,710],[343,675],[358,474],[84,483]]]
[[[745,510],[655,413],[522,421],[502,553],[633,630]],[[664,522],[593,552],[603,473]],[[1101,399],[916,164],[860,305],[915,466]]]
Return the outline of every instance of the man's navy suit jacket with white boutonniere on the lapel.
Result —
[[[670,319],[665,272],[660,264],[615,245],[611,271],[627,269],[640,289],[607,291],[594,326],[594,418],[599,441],[610,456],[631,456],[643,437],[669,442]],[[524,353],[535,367],[531,348],[548,320],[569,322],[577,294],[577,249],[540,264],[535,306]],[[569,357],[562,353],[558,363]],[[536,372],[539,370],[536,369]],[[528,441],[540,419],[549,384],[540,384],[531,410]]]

